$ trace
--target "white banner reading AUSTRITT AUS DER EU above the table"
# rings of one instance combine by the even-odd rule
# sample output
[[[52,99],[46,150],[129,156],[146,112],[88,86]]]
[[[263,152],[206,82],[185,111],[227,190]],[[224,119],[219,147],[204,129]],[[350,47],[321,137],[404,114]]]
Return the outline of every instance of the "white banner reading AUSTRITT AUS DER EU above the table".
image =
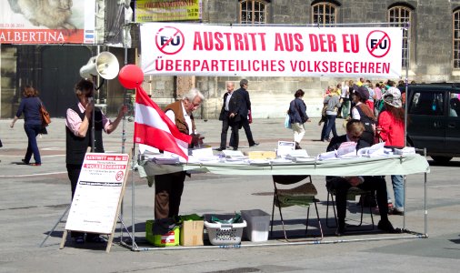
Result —
[[[146,75],[401,76],[398,27],[141,25]]]

